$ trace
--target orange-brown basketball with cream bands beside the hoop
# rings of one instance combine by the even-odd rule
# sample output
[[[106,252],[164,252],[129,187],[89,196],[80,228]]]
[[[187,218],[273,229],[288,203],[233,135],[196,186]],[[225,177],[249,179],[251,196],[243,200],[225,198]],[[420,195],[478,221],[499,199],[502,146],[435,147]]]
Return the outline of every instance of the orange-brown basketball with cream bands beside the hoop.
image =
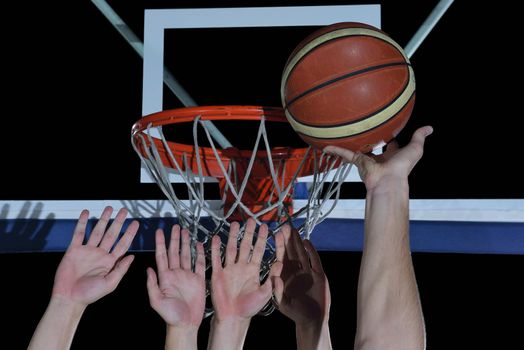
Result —
[[[393,139],[415,103],[402,48],[363,23],[336,23],[304,39],[282,75],[286,117],[304,141],[367,153]]]

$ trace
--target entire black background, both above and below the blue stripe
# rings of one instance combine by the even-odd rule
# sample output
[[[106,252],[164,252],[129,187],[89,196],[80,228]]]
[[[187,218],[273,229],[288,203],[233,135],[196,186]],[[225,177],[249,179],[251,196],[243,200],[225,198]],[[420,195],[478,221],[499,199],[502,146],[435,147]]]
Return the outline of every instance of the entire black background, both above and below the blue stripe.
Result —
[[[133,24],[140,37],[144,8],[320,4],[110,3],[128,24]],[[352,2],[322,2],[346,3]],[[405,45],[435,4],[436,1],[383,1],[382,27]],[[139,161],[129,144],[131,125],[141,110],[141,59],[89,1],[16,2],[2,6],[18,25],[2,24],[4,123],[0,146],[4,166],[0,176],[4,186],[0,199],[162,198],[156,185],[139,184]],[[399,142],[407,142],[419,126],[435,127],[424,159],[410,179],[413,198],[524,198],[523,173],[517,168],[522,161],[518,128],[522,117],[522,73],[517,54],[522,40],[518,35],[521,19],[515,6],[514,2],[457,1],[413,57],[417,102]],[[303,30],[307,34],[307,28]],[[291,32],[294,31],[286,34],[290,38],[289,50],[296,44],[291,41],[301,37],[299,30],[295,36]],[[192,35],[202,33],[194,31]],[[263,42],[261,50],[285,58],[286,54],[280,51],[284,49],[282,42],[278,48]],[[190,53],[196,56],[180,56],[180,60],[203,59],[206,50],[204,47],[204,52]],[[166,55],[170,57],[171,53]],[[208,77],[212,83],[206,90],[204,86],[208,84],[202,83],[206,80],[199,80],[203,71],[188,70],[188,77],[195,78],[192,85],[191,79],[176,71],[175,64],[169,65],[199,103],[277,104],[282,68],[276,67],[262,79],[260,62],[252,62],[253,57],[249,56],[249,64],[237,67],[242,68],[237,72],[224,68],[233,77],[245,79],[253,74],[251,83],[247,79],[240,87],[224,84],[213,76]],[[209,56],[207,62],[213,62],[213,57]],[[245,86],[248,83],[252,85]],[[168,96],[171,95],[166,93]],[[59,133],[60,128],[67,132]],[[21,181],[26,174],[33,175],[29,181]],[[348,186],[348,197],[363,195],[360,185]],[[48,253],[0,255],[0,348],[26,347],[45,310],[60,257]],[[330,325],[334,347],[349,349],[355,331],[360,254],[322,252],[321,257],[333,295]],[[428,348],[522,347],[522,257],[413,257]],[[73,348],[162,348],[164,325],[147,304],[146,266],[153,266],[153,255],[138,254],[117,291],[89,307]],[[201,348],[205,348],[207,333],[208,321],[204,321]],[[274,314],[254,318],[246,349],[286,349],[293,348],[293,344],[293,325]]]

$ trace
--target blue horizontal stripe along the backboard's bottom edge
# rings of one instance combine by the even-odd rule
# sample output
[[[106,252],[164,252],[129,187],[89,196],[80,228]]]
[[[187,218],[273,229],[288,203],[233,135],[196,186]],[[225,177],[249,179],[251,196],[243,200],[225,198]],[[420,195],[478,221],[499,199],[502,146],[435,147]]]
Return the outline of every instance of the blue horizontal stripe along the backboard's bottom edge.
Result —
[[[95,222],[90,220],[90,226]],[[155,230],[174,223],[175,218],[141,220],[131,249],[153,250]],[[0,252],[64,251],[75,224],[76,220],[0,220]],[[524,223],[412,221],[410,227],[414,252],[524,254]],[[326,219],[315,228],[312,241],[319,250],[359,251],[363,232],[363,220]]]

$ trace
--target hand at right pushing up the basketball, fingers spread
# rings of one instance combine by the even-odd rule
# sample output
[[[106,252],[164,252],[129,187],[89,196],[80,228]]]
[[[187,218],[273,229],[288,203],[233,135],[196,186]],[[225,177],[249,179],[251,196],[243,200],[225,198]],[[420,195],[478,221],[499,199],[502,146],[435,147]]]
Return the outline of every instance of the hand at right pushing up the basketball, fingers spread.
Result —
[[[381,155],[366,155],[348,149],[327,146],[325,152],[333,153],[357,166],[360,178],[368,190],[374,189],[382,179],[407,178],[415,164],[420,160],[424,150],[424,141],[431,135],[433,128],[425,126],[413,134],[411,142],[398,148],[395,141],[388,144],[386,152]]]

